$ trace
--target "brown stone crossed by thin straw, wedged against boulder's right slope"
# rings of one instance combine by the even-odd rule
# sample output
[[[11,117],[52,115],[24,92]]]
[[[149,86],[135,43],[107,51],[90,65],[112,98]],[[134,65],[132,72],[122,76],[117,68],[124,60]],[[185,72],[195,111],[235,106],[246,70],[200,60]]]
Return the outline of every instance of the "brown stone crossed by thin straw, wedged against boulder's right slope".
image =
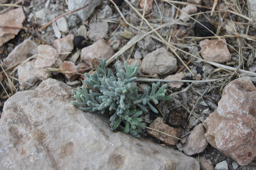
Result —
[[[157,119],[155,119],[149,125],[149,127],[152,128],[152,129],[164,132],[166,134],[178,137],[178,138],[181,137],[181,128],[180,127],[171,127],[167,124],[164,124],[164,121],[161,117],[157,117]],[[177,142],[179,141],[178,139],[176,139],[174,137],[164,135],[164,134],[162,134],[160,132],[157,132],[157,131],[154,131],[154,130],[149,129],[148,133],[151,136],[157,138],[158,140],[164,142],[166,145],[173,146],[173,145],[176,145]]]

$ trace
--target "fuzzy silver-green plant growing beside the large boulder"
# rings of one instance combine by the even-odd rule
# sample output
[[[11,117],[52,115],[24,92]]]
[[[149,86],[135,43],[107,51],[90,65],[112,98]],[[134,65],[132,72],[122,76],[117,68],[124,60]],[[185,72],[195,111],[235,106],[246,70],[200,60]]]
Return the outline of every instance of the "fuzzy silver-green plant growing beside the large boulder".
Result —
[[[106,74],[106,60],[102,59],[96,74],[85,73],[87,80],[84,80],[85,84],[100,92],[90,90],[88,94],[85,86],[78,87],[78,91],[72,90],[72,93],[79,102],[72,101],[72,104],[85,106],[79,108],[83,111],[110,113],[111,130],[118,127],[126,133],[140,137],[139,132],[146,127],[139,117],[143,112],[148,112],[145,105],[148,105],[153,112],[158,113],[150,101],[158,104],[158,100],[169,100],[172,97],[165,95],[167,84],[158,89],[160,82],[152,84],[151,92],[150,87],[145,87],[144,93],[138,94],[138,87],[132,85],[132,82],[137,79],[138,66],[136,63],[130,66],[125,62],[124,67],[125,70],[118,66],[116,80],[111,69]]]

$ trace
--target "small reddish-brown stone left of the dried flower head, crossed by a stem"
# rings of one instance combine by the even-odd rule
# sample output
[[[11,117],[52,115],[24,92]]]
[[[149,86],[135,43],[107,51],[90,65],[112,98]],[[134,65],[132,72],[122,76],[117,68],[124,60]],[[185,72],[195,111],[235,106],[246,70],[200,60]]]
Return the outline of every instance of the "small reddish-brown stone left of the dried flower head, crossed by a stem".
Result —
[[[75,72],[76,70],[78,70],[78,67],[71,61],[64,61],[60,66],[60,69],[65,71]],[[77,77],[79,77],[79,74],[75,74],[75,73],[64,73],[64,74],[69,81],[74,81]]]

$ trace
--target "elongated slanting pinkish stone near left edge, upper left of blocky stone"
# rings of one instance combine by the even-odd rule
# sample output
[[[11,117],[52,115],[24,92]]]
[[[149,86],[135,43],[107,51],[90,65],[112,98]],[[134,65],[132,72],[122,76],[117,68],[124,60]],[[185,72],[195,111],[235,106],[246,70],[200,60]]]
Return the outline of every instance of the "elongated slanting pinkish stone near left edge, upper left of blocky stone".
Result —
[[[31,40],[24,40],[4,59],[4,66],[6,68],[14,66],[34,54],[37,54],[37,44]]]

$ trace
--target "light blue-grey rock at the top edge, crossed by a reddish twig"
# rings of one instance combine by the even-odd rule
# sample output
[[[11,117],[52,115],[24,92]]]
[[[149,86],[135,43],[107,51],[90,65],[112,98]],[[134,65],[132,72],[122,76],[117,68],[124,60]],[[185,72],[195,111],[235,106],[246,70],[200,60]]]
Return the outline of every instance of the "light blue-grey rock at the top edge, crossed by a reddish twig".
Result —
[[[70,11],[78,9],[89,3],[90,0],[68,0],[68,9]],[[82,10],[75,12],[75,14],[83,21],[87,20],[93,13],[96,6],[101,4],[101,0],[93,0],[92,3]]]

